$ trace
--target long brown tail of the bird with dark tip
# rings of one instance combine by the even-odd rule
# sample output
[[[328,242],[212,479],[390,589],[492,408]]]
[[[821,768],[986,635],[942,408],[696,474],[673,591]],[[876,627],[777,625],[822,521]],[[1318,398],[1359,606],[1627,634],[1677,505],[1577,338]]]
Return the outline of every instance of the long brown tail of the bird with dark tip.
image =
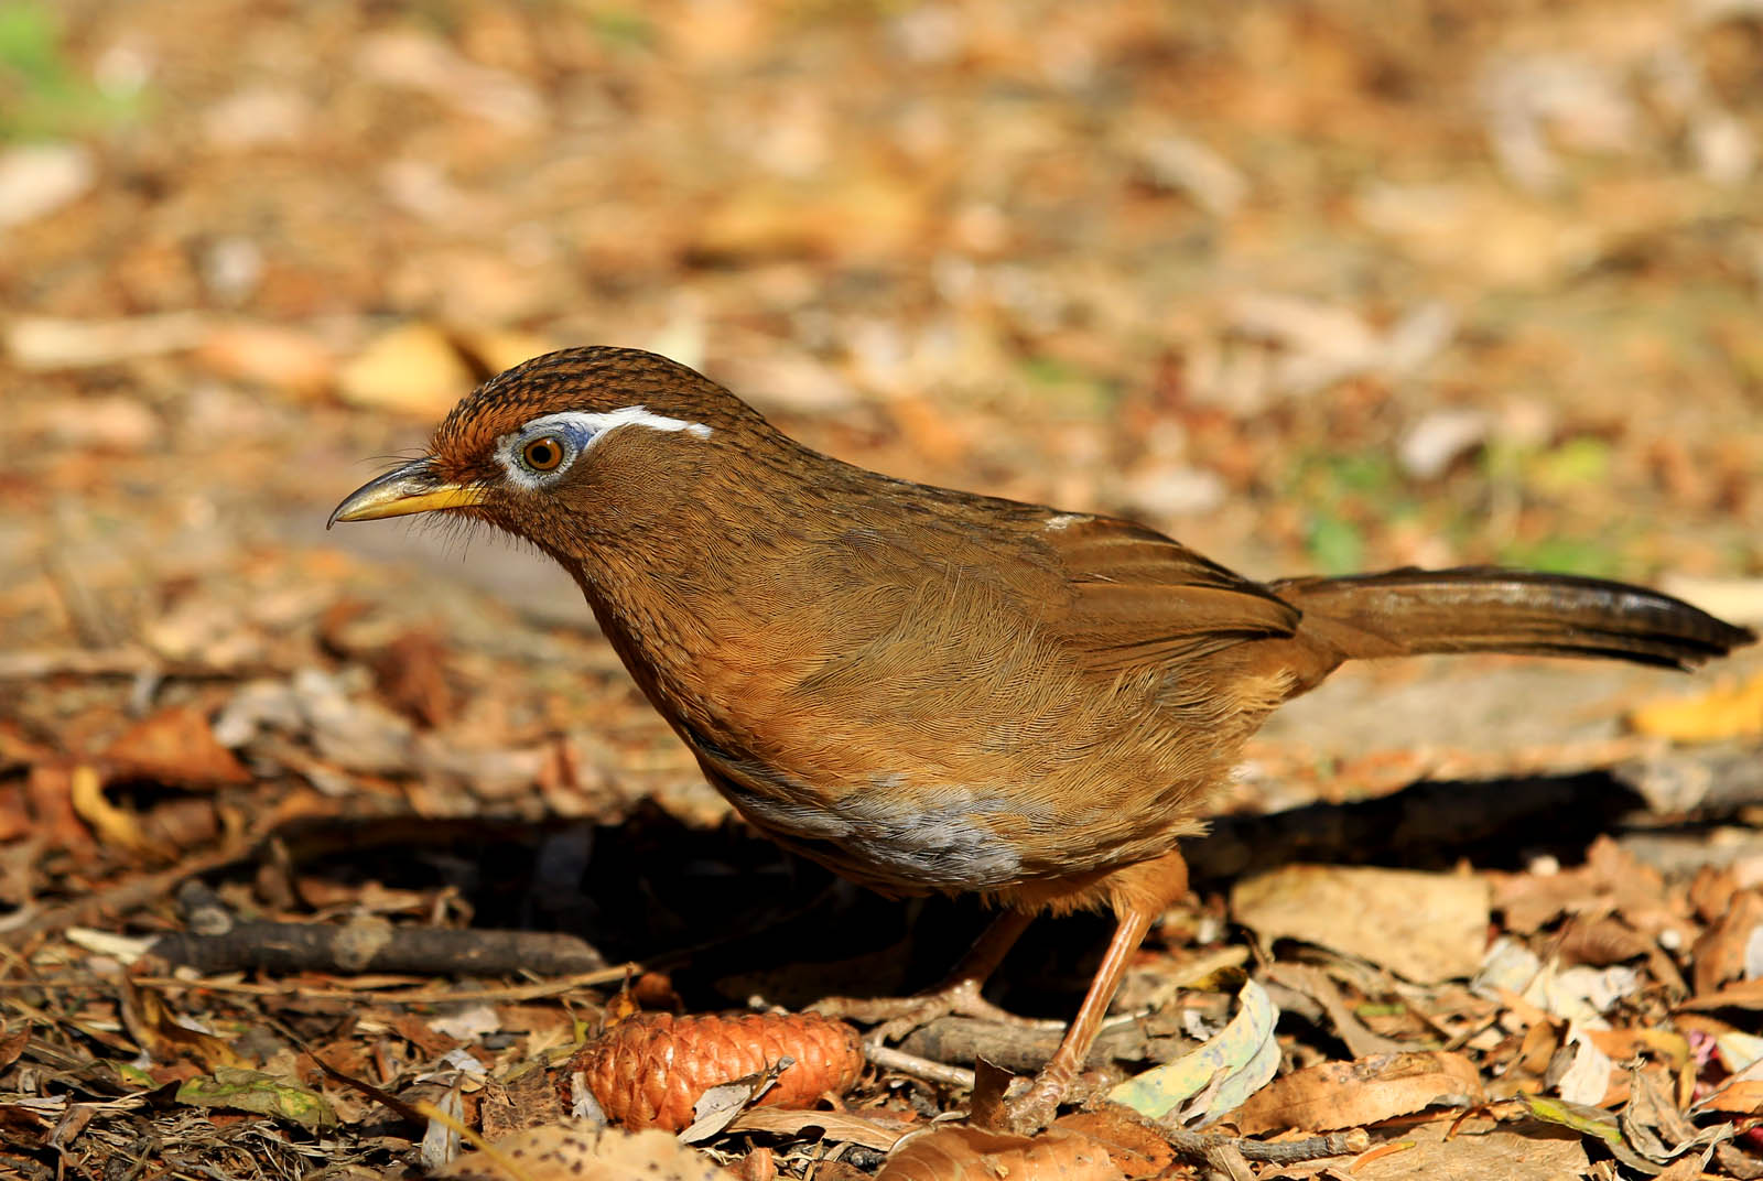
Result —
[[[1758,638],[1657,590],[1491,566],[1283,578],[1271,589],[1303,610],[1299,633],[1342,659],[1530,652],[1692,668]]]

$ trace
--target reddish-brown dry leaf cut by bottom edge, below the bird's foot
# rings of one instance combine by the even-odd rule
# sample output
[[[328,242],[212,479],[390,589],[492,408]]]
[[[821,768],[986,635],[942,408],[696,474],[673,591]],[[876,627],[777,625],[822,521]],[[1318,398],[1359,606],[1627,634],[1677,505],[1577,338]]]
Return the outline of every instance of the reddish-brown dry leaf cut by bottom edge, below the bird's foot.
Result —
[[[876,1181],[1125,1181],[1107,1149],[1077,1132],[927,1128],[899,1142]]]

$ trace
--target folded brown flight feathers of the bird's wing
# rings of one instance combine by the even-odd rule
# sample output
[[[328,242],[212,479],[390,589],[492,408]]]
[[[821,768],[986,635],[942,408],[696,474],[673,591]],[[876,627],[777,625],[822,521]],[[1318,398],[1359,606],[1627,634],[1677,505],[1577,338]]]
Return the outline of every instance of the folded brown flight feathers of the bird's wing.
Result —
[[[1070,587],[1045,626],[1097,672],[1194,659],[1289,636],[1301,612],[1273,590],[1160,532],[1109,516],[1054,518],[1038,541]]]

